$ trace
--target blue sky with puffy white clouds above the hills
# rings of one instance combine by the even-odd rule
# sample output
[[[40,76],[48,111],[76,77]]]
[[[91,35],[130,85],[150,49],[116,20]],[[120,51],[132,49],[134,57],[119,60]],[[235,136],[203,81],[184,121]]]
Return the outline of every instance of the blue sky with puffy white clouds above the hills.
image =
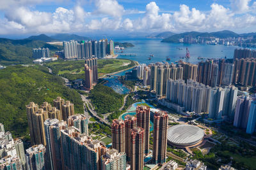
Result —
[[[238,33],[256,29],[252,0],[2,0],[0,34]]]

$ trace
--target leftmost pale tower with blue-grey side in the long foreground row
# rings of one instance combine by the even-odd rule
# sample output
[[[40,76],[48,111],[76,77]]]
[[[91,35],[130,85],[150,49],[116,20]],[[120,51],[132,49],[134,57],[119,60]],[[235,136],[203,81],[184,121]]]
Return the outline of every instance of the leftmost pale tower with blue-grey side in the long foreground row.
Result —
[[[65,129],[67,123],[64,120],[47,119],[44,122],[47,159],[50,169],[63,169],[61,160],[61,129]]]

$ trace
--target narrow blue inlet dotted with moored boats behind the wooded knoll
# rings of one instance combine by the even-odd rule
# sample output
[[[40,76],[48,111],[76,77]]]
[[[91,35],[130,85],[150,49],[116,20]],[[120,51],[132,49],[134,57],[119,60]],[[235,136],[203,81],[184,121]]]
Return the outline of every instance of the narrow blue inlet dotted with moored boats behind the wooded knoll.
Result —
[[[104,80],[107,80],[108,82],[104,85],[111,87],[115,92],[119,94],[127,94],[129,93],[129,89],[125,87],[119,80],[117,76],[111,76],[109,78],[104,78]]]

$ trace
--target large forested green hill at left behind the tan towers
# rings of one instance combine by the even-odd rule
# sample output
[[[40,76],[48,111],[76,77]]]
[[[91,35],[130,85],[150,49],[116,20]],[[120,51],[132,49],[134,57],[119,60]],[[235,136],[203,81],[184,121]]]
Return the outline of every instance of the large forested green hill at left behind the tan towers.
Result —
[[[33,101],[52,103],[58,96],[70,100],[76,113],[83,113],[83,101],[76,90],[63,85],[59,76],[48,73],[46,67],[8,66],[0,70],[0,122],[13,136],[28,134],[26,104]]]

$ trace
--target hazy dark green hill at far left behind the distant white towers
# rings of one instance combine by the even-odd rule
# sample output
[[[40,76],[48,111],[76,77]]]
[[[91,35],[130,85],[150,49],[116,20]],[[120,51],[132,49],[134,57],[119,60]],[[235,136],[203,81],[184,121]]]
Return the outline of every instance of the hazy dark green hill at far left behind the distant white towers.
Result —
[[[49,48],[51,51],[61,50],[62,46],[49,45],[44,41],[33,39],[0,38],[0,64],[29,64],[32,62],[33,48]]]

